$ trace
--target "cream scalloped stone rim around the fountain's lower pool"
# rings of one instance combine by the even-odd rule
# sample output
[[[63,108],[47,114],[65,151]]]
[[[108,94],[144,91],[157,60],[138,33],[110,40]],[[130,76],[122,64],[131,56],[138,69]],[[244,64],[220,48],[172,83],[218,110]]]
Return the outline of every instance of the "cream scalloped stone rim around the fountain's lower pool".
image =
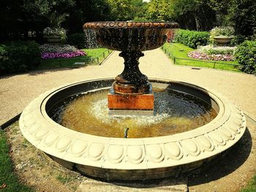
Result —
[[[243,112],[218,95],[214,98],[221,102],[219,115],[214,119],[217,123],[208,123],[196,131],[141,139],[81,134],[53,122],[41,108],[45,98],[67,86],[53,89],[34,99],[20,116],[20,130],[29,142],[45,153],[83,166],[122,171],[196,164],[233,146],[246,129]],[[198,87],[195,85],[195,88]],[[212,91],[207,91],[216,96]]]

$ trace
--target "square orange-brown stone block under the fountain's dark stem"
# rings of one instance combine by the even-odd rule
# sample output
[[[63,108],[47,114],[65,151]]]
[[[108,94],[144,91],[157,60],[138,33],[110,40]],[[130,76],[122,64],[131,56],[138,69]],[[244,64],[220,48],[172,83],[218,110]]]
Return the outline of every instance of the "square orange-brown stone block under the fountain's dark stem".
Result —
[[[110,110],[154,110],[154,94],[108,94]]]

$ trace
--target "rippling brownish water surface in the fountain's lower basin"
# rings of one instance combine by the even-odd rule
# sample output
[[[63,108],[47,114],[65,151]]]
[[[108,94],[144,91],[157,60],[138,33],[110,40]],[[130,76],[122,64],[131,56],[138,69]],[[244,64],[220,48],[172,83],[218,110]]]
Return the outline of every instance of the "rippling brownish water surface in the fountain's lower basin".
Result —
[[[154,90],[153,116],[108,115],[108,89],[66,99],[51,112],[57,123],[86,134],[102,137],[159,137],[189,131],[217,116],[206,102],[186,93]]]

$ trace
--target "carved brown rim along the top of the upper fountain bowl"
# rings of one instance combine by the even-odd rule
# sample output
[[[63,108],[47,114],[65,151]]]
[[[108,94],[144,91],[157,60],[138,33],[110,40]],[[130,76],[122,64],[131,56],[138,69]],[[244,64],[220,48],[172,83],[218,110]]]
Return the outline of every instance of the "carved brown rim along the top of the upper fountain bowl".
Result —
[[[83,28],[179,28],[179,25],[175,22],[97,21],[85,23]]]

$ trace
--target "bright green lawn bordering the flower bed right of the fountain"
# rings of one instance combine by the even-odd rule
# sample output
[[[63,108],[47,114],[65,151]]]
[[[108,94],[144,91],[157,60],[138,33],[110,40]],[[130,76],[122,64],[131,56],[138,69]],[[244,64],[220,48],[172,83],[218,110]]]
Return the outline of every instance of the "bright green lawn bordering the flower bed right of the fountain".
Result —
[[[184,66],[197,66],[197,67],[208,67],[208,68],[215,68],[215,69],[222,69],[222,70],[228,70],[233,72],[241,72],[239,69],[236,68],[236,66],[232,66],[230,64],[238,65],[236,61],[215,61],[215,67],[214,63],[208,63],[206,60],[200,60],[200,59],[194,59],[189,58],[187,56],[187,53],[189,53],[192,50],[190,47],[187,47],[186,45],[183,45],[181,43],[165,43],[163,45],[163,50],[166,50],[166,54],[168,55],[170,53],[170,58],[176,58],[175,64],[178,65],[184,65]],[[183,60],[189,59],[189,60]],[[214,61],[211,61],[214,62]]]

